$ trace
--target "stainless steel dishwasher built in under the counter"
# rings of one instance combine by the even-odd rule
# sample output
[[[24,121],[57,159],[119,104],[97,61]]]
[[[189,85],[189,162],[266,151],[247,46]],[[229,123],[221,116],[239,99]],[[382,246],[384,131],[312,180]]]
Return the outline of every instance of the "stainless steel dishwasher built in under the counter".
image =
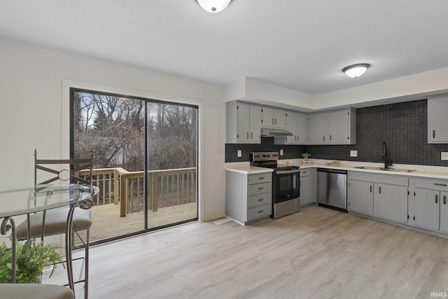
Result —
[[[318,205],[347,211],[347,171],[341,169],[317,169]]]

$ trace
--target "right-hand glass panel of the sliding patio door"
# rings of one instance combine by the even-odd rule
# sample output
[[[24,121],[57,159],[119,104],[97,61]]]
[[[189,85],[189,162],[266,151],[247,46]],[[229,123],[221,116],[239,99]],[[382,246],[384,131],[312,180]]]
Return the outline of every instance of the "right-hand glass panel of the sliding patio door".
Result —
[[[197,218],[197,107],[146,107],[148,227]]]

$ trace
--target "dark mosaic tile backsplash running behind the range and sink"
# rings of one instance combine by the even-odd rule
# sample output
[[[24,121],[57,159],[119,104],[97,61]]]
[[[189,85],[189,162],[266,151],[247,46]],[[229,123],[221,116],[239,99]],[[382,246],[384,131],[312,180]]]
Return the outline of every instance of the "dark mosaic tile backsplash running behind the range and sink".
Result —
[[[428,144],[426,99],[398,104],[373,106],[356,110],[356,144],[340,146],[274,145],[274,138],[262,137],[261,144],[225,144],[225,162],[250,160],[252,151],[280,151],[282,159],[311,158],[381,162],[382,143],[387,144],[388,158],[397,164],[448,166],[440,160],[440,152],[448,144]],[[242,157],[237,158],[237,150]],[[358,151],[357,158],[350,151]]]

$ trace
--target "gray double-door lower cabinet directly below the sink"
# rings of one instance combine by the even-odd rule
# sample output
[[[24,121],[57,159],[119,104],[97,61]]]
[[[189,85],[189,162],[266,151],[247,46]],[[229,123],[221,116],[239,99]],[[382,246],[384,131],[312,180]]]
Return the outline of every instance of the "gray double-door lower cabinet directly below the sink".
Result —
[[[347,209],[407,223],[407,176],[349,172]]]

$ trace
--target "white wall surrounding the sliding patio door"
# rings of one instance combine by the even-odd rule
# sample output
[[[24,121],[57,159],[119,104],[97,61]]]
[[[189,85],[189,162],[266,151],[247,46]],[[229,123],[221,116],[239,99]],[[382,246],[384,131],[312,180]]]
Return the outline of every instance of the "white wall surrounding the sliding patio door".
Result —
[[[223,87],[0,37],[0,189],[33,183],[33,153],[68,158],[70,84],[200,106],[200,219],[224,215]],[[0,203],[2,204],[2,203]]]

